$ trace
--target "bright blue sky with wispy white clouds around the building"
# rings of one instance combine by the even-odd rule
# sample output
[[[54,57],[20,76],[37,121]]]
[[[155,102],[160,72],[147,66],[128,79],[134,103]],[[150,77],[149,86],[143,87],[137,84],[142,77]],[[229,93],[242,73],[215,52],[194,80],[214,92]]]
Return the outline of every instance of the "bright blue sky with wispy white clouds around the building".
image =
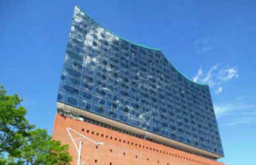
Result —
[[[160,48],[191,80],[208,83],[228,165],[256,154],[256,2],[253,0],[0,1],[0,84],[52,133],[74,5],[134,43]]]

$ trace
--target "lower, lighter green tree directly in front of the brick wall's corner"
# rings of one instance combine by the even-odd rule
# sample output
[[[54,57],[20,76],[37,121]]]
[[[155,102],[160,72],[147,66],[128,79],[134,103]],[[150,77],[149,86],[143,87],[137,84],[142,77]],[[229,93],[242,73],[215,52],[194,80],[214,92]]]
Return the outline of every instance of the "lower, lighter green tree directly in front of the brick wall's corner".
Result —
[[[26,145],[21,147],[20,162],[27,164],[67,164],[71,161],[67,145],[51,139],[45,129],[30,132]]]

